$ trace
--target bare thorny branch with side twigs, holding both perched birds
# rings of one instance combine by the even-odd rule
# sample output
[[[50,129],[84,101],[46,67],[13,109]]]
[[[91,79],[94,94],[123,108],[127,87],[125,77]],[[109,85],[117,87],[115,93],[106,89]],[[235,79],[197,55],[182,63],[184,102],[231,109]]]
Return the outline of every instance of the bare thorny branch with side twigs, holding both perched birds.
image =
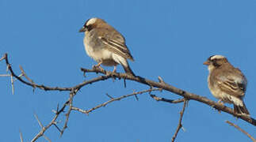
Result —
[[[62,135],[64,130],[67,129],[67,121],[69,120],[69,116],[70,116],[72,110],[78,110],[79,112],[82,112],[83,114],[89,114],[93,110],[96,110],[100,107],[105,107],[105,105],[107,105],[109,103],[112,103],[112,102],[120,100],[120,99],[127,98],[127,97],[132,96],[132,95],[136,96],[136,95],[142,94],[144,92],[162,91],[162,90],[166,90],[167,92],[173,92],[174,94],[181,95],[183,97],[183,99],[171,100],[171,99],[164,99],[164,98],[157,97],[155,95],[151,95],[151,97],[153,99],[155,99],[157,101],[166,102],[166,103],[182,103],[182,102],[184,102],[184,107],[181,110],[181,116],[180,116],[180,120],[179,120],[179,123],[178,123],[178,128],[176,130],[176,133],[174,133],[174,137],[173,137],[172,140],[175,140],[176,136],[178,135],[179,129],[182,128],[181,120],[182,120],[182,116],[183,116],[183,113],[184,113],[184,110],[185,110],[185,103],[189,100],[195,100],[197,102],[204,103],[204,104],[208,105],[209,107],[214,107],[217,110],[224,111],[227,114],[234,115],[236,118],[241,118],[244,121],[246,121],[246,122],[248,122],[252,125],[256,125],[256,120],[254,118],[250,118],[247,115],[235,114],[234,110],[232,110],[231,108],[226,107],[226,106],[224,106],[220,103],[216,103],[216,102],[214,102],[210,99],[207,99],[206,97],[202,97],[200,95],[196,95],[196,94],[193,94],[193,93],[190,93],[190,92],[185,92],[185,91],[183,91],[179,88],[175,88],[174,86],[171,86],[170,84],[166,84],[166,82],[164,82],[162,80],[162,77],[159,77],[159,82],[156,82],[154,80],[148,80],[146,78],[139,77],[139,76],[133,77],[133,76],[128,75],[126,73],[113,73],[113,72],[105,71],[105,70],[98,69],[98,68],[81,69],[84,74],[85,73],[101,73],[102,76],[95,77],[91,80],[86,80],[86,81],[84,81],[80,84],[77,84],[77,85],[73,86],[73,87],[66,87],[66,88],[49,87],[49,86],[45,86],[44,84],[36,84],[34,81],[32,81],[25,74],[25,71],[24,71],[24,69],[22,69],[21,66],[20,66],[21,75],[17,75],[16,73],[14,73],[13,69],[12,69],[12,66],[10,65],[10,62],[8,61],[8,55],[7,54],[5,54],[2,58],[0,58],[0,62],[2,60],[6,61],[7,71],[10,71],[10,74],[3,74],[3,75],[0,75],[0,77],[11,77],[12,92],[14,92],[14,88],[13,88],[14,79],[13,79],[13,77],[16,80],[21,81],[21,83],[31,86],[33,89],[39,88],[39,89],[42,89],[44,91],[66,91],[66,92],[70,92],[70,98],[67,100],[67,102],[63,104],[63,107],[61,107],[60,110],[59,110],[59,107],[57,107],[57,110],[55,111],[55,116],[52,118],[52,121],[50,121],[50,123],[48,125],[46,125],[46,126],[41,125],[40,132],[37,133],[36,136],[31,140],[32,142],[36,141],[40,136],[44,136],[44,132],[49,127],[51,127],[52,125],[55,125],[55,127],[59,130],[60,134]],[[23,76],[25,77],[26,80],[22,79]],[[109,101],[107,101],[105,103],[102,103],[102,104],[98,105],[97,107],[93,107],[90,110],[82,110],[80,108],[73,107],[72,103],[73,103],[74,96],[76,95],[76,93],[78,92],[78,90],[80,88],[86,86],[87,84],[93,84],[93,83],[101,81],[101,80],[108,80],[109,78],[118,78],[118,79],[123,79],[123,80],[133,80],[133,81],[139,82],[140,84],[148,85],[150,87],[150,89],[142,91],[142,92],[133,92],[130,95],[122,95],[122,96],[120,96],[116,99],[114,99],[114,98],[110,99]],[[57,126],[57,121],[56,120],[59,117],[59,114],[63,113],[64,109],[67,106],[69,106],[69,109],[67,110],[66,121],[63,125],[63,129],[59,129],[59,127]],[[37,119],[37,120],[39,121],[39,119]],[[46,136],[44,136],[44,138],[48,141],[51,141]],[[21,136],[21,139],[22,139],[22,136]]]

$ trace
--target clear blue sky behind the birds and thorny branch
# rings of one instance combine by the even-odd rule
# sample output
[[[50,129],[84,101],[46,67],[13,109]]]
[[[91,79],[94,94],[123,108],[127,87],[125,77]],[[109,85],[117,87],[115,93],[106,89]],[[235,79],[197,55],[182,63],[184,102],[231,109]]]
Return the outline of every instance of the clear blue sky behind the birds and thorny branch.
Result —
[[[166,1],[89,1],[89,0],[0,0],[0,54],[8,53],[16,73],[19,65],[38,84],[70,87],[97,75],[84,78],[80,67],[95,65],[86,55],[78,33],[90,17],[101,17],[121,32],[135,62],[133,71],[140,76],[167,83],[186,91],[216,99],[208,90],[208,70],[203,62],[212,54],[223,54],[242,69],[248,79],[244,98],[256,118],[256,1],[254,0],[166,0]],[[113,68],[105,68],[112,70]],[[124,72],[120,67],[118,72]],[[6,65],[0,62],[0,74]],[[114,97],[130,94],[147,86],[127,81],[106,80],[82,88],[74,106],[90,109]],[[44,92],[16,81],[11,93],[10,78],[1,77],[0,141],[19,141],[19,129],[25,141],[39,132],[33,117],[47,125],[68,92]],[[169,92],[155,92],[178,99]],[[232,107],[231,105],[228,105]],[[62,137],[55,127],[46,136],[52,141],[170,141],[178,124],[182,104],[155,102],[147,94],[111,103],[89,116],[74,112]],[[63,115],[59,118],[63,125]],[[219,114],[204,104],[190,101],[185,110],[178,141],[250,141],[224,121],[235,122],[256,136],[255,127]],[[41,138],[38,141],[45,141]]]

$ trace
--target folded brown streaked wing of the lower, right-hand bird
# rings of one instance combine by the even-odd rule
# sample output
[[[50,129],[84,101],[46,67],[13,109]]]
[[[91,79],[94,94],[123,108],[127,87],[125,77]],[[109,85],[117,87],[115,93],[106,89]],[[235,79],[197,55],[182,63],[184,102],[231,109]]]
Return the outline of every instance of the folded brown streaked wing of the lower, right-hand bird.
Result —
[[[221,91],[238,98],[243,98],[246,92],[246,78],[242,73],[232,73],[230,71],[221,73],[216,77],[217,84]]]

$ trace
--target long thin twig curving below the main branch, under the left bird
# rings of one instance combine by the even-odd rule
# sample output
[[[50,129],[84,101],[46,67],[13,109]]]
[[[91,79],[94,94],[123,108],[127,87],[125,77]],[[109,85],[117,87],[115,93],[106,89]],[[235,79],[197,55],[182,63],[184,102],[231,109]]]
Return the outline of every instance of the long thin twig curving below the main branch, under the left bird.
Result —
[[[160,88],[151,88],[151,89],[148,89],[148,90],[143,90],[141,92],[133,92],[132,94],[129,94],[129,95],[122,95],[122,96],[120,96],[118,98],[110,99],[109,101],[107,101],[105,103],[101,103],[100,105],[97,105],[96,107],[93,107],[90,110],[82,110],[82,109],[80,109],[78,107],[72,107],[71,109],[72,110],[77,110],[77,111],[81,112],[82,114],[89,114],[90,112],[92,112],[94,110],[97,110],[100,107],[105,107],[107,104],[113,103],[114,101],[117,101],[117,100],[120,100],[120,99],[124,99],[124,98],[128,98],[128,97],[133,96],[133,95],[143,94],[145,92],[153,92],[153,91],[159,91],[159,90],[161,90],[161,89]]]

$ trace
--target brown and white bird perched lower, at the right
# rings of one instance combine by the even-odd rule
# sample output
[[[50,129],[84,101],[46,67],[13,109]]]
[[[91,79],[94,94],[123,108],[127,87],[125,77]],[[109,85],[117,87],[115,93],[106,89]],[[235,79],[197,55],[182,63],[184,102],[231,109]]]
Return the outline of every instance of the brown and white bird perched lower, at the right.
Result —
[[[233,103],[237,114],[250,115],[243,103],[247,80],[240,69],[235,68],[222,55],[213,55],[204,65],[208,65],[208,88],[217,99]]]

